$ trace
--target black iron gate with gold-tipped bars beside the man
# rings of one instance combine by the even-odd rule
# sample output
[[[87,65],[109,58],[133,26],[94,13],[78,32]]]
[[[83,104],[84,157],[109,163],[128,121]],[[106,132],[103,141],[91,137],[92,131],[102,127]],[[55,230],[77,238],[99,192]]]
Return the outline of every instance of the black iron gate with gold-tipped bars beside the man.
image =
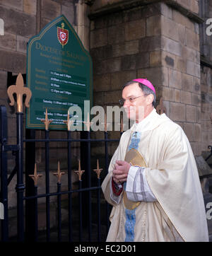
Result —
[[[72,139],[71,132],[67,131],[65,139],[49,139],[49,134],[51,131],[45,130],[45,139],[35,139],[32,134],[25,134],[23,136],[23,112],[16,113],[16,131],[17,131],[17,144],[8,145],[8,122],[6,107],[0,107],[1,112],[1,199],[0,202],[4,204],[4,219],[1,220],[1,240],[35,240],[40,241],[40,233],[42,233],[42,238],[46,241],[58,240],[58,241],[101,241],[105,240],[109,223],[110,206],[104,202],[101,196],[101,178],[97,175],[95,185],[92,185],[90,180],[90,173],[93,172],[90,168],[90,144],[99,143],[102,141],[105,144],[105,163],[104,168],[107,170],[109,157],[107,152],[107,145],[110,141],[119,141],[118,139],[108,139],[107,131],[104,132],[104,139],[91,139],[90,132],[83,132],[83,138]],[[33,133],[33,130],[28,130],[27,132]],[[27,133],[26,132],[26,133]],[[35,132],[35,131],[34,131]],[[30,139],[28,139],[30,138]],[[33,138],[33,139],[32,139]],[[65,141],[67,143],[68,156],[71,156],[71,144],[74,141],[81,142],[83,144],[83,150],[86,149],[86,158],[84,159],[83,179],[81,179],[82,170],[79,166],[78,171],[78,189],[72,189],[71,172],[72,163],[71,157],[67,159],[68,166],[68,190],[61,191],[61,173],[58,167],[58,172],[56,173],[57,181],[57,191],[49,191],[49,144],[55,141]],[[37,192],[37,179],[39,178],[39,173],[37,173],[35,161],[33,157],[28,161],[28,157],[25,157],[25,161],[28,161],[30,168],[25,168],[24,172],[24,147],[28,150],[25,151],[26,155],[31,154],[33,144],[36,142],[43,142],[45,144],[45,194],[39,194]],[[82,146],[81,146],[82,148]],[[12,151],[16,162],[13,171],[8,175],[8,151]],[[32,154],[33,156],[33,154]],[[102,166],[101,166],[102,167]],[[99,166],[95,170],[100,173]],[[29,171],[30,170],[30,171]],[[107,172],[106,172],[107,173]],[[25,174],[25,181],[24,181]],[[16,175],[16,194],[17,194],[17,235],[11,238],[8,232],[10,225],[10,218],[8,217],[8,185],[10,184],[13,177]],[[77,193],[77,204],[73,202],[73,193]],[[92,197],[92,193],[95,193],[95,197]],[[67,205],[68,205],[68,220],[66,226],[63,226],[61,221],[61,196],[67,195]],[[37,200],[40,198],[45,198],[45,231],[40,232],[38,228],[38,203]],[[57,226],[54,227],[54,231],[50,226],[50,198],[57,197]],[[101,201],[103,201],[103,208]],[[93,209],[92,209],[93,208]],[[77,211],[78,219],[73,219],[73,210]],[[93,212],[95,212],[95,217],[93,217]],[[102,223],[101,216],[104,216]],[[77,222],[77,225],[76,225]],[[105,226],[104,226],[105,225]],[[76,229],[74,229],[76,226]],[[103,227],[103,228],[102,228]],[[105,228],[104,228],[105,227]],[[64,228],[66,233],[64,235]],[[54,238],[52,235],[54,232]],[[43,235],[43,233],[45,233]],[[56,238],[55,238],[56,237]],[[65,238],[64,238],[65,237]]]

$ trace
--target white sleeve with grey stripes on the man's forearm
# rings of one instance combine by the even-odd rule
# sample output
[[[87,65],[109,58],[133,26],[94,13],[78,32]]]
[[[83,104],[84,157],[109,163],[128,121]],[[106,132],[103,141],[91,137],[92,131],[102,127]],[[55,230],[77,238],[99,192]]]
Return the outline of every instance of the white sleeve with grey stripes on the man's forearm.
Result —
[[[139,166],[131,166],[126,180],[126,195],[131,201],[138,202],[155,202],[155,198],[151,188],[145,177],[146,168]]]

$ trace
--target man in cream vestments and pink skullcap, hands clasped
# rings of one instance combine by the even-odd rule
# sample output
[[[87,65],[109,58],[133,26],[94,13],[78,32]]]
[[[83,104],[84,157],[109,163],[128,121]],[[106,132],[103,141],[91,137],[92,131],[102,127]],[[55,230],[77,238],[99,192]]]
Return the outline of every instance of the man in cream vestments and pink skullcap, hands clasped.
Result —
[[[134,125],[122,134],[102,182],[112,204],[107,241],[208,241],[194,154],[182,128],[155,111],[155,88],[138,78],[119,100]]]

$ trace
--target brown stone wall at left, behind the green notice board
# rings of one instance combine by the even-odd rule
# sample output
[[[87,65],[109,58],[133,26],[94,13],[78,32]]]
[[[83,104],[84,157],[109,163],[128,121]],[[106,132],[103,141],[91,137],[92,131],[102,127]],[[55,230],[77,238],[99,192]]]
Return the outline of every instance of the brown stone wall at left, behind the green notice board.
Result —
[[[9,105],[6,93],[8,72],[12,72],[13,75],[26,73],[28,40],[40,33],[40,30],[54,18],[64,14],[73,28],[78,29],[75,2],[74,0],[2,0],[0,3],[0,17],[4,20],[4,35],[0,36],[0,104],[6,105],[7,108],[8,144],[16,144],[16,106]],[[41,137],[42,132],[36,132],[36,136]],[[52,136],[66,135],[59,132]],[[52,144],[52,154],[58,155],[63,147],[64,144]],[[42,151],[38,149],[38,163],[42,162],[42,155]],[[14,157],[9,155],[9,158],[8,171],[11,171],[14,168]]]

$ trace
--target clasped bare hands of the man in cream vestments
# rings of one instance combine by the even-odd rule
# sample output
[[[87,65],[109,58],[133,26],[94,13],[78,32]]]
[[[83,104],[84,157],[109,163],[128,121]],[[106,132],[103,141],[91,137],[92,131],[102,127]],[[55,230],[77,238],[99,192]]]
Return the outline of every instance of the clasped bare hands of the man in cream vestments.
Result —
[[[122,184],[126,181],[131,165],[126,161],[116,161],[112,170],[112,178],[117,184]]]

